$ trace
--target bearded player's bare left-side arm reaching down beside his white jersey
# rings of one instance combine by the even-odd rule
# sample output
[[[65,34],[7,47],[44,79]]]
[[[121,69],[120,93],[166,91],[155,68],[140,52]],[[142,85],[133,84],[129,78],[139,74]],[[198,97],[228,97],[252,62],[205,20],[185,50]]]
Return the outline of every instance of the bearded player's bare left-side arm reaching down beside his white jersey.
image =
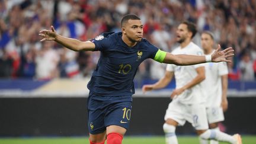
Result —
[[[165,76],[159,79],[158,82],[152,85],[143,85],[142,91],[145,93],[146,91],[152,91],[153,89],[161,89],[166,87],[174,76],[174,72],[165,71]]]

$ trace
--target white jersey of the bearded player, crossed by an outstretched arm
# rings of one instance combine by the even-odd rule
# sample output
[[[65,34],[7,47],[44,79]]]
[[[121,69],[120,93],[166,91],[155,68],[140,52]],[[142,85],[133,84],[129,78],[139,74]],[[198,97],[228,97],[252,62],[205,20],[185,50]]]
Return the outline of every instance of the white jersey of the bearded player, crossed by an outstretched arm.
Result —
[[[185,54],[185,55],[203,55],[203,50],[199,46],[190,42],[188,46],[181,49],[177,47],[172,51],[172,54]],[[196,68],[204,66],[204,64],[190,65],[190,66],[177,66],[173,64],[167,65],[167,71],[174,72],[176,88],[181,88],[188,82],[192,81],[198,74]],[[186,89],[183,93],[178,95],[174,100],[180,101],[183,104],[199,104],[204,103],[203,90],[201,89],[201,84],[194,85],[190,89]]]

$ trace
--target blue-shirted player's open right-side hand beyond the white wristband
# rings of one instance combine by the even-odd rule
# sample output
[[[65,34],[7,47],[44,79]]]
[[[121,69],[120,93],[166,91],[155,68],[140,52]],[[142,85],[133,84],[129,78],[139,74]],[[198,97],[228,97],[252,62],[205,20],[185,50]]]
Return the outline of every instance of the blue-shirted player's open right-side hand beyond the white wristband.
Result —
[[[227,60],[226,58],[233,55],[234,50],[232,47],[220,51],[220,44],[218,44],[217,49],[212,54],[212,62],[231,62],[231,60]]]

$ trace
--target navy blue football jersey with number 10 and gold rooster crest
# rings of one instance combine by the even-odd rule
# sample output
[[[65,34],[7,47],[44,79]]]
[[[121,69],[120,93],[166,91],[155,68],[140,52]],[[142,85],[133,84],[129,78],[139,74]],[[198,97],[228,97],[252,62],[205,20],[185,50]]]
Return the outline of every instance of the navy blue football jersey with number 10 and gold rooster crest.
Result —
[[[143,60],[153,59],[158,48],[142,39],[129,47],[121,39],[122,33],[104,33],[91,40],[100,51],[97,68],[87,87],[94,94],[107,96],[135,93],[133,78]]]

